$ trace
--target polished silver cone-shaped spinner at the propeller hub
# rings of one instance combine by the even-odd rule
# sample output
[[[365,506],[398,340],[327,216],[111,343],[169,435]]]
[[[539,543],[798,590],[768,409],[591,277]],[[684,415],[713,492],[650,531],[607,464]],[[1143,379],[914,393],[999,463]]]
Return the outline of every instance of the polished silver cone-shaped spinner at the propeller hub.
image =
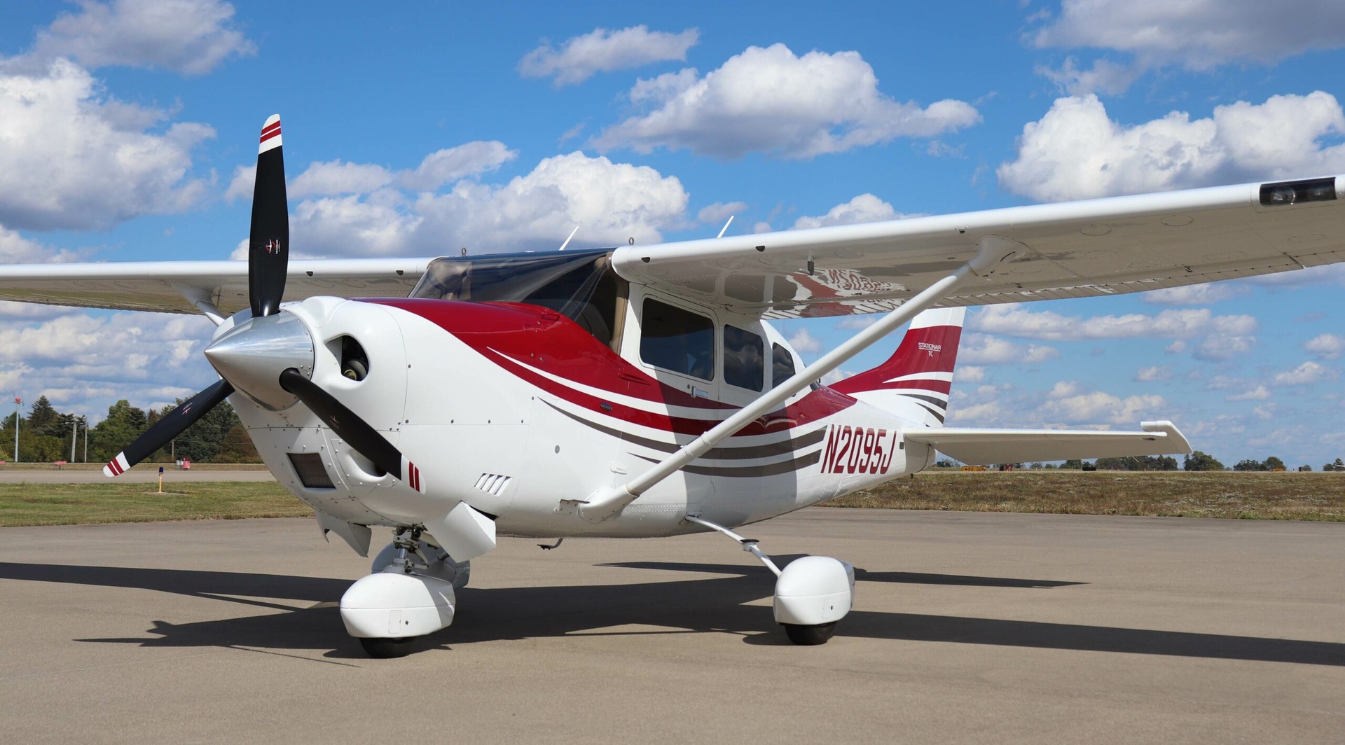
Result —
[[[206,359],[249,398],[280,410],[299,401],[280,386],[280,374],[296,368],[305,379],[312,377],[313,339],[295,315],[280,312],[226,331],[206,347]]]

